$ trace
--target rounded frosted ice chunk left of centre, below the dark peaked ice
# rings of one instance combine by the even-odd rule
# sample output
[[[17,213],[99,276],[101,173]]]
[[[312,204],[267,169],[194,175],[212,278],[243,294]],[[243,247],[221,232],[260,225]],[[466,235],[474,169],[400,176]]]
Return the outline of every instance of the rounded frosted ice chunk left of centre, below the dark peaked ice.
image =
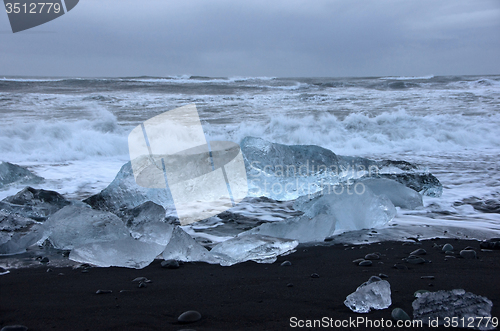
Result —
[[[46,221],[49,240],[58,249],[129,237],[125,224],[115,214],[84,205],[62,208]]]

